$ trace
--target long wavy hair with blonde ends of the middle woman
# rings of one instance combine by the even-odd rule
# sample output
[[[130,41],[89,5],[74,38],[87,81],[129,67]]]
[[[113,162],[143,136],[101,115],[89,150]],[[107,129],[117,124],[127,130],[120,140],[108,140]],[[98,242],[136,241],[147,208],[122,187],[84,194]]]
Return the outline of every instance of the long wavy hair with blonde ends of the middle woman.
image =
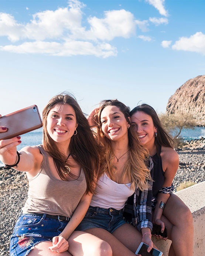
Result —
[[[112,145],[110,140],[103,134],[102,131],[102,123],[100,121],[100,116],[103,109],[106,106],[116,106],[120,109],[120,111],[124,114],[126,121],[130,124],[130,128],[128,129],[128,139],[129,139],[129,158],[124,165],[124,172],[122,176],[122,181],[126,177],[129,178],[131,182],[131,188],[135,186],[139,186],[140,190],[144,190],[148,188],[148,180],[151,180],[150,171],[147,169],[146,164],[148,163],[148,150],[141,144],[138,135],[134,131],[133,127],[131,127],[129,113],[130,108],[124,105],[122,102],[117,99],[105,100],[101,102],[101,106],[98,112],[98,140],[101,142],[104,150],[105,157],[101,161],[100,166],[100,175],[105,173],[106,171],[109,173],[110,178],[112,179],[117,169],[113,164],[113,160],[115,158]]]

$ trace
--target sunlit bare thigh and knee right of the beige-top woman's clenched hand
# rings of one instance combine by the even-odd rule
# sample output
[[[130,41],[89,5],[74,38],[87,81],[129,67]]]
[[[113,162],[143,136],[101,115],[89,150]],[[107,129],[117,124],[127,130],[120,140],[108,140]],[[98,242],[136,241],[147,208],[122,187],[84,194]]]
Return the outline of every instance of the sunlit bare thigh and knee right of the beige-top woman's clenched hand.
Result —
[[[95,235],[74,231],[68,239],[72,256],[112,256],[110,245]]]

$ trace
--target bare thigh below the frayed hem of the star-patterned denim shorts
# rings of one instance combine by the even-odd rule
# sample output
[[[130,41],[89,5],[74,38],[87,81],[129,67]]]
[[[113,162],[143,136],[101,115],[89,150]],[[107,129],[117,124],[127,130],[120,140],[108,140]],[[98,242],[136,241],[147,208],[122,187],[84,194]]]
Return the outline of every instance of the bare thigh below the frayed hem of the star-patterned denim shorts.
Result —
[[[48,249],[49,246],[52,246],[52,242],[50,241],[45,241],[38,243],[34,246],[34,249],[31,250],[30,253],[28,253],[28,256],[56,256],[56,255],[61,255],[61,256],[72,256],[69,252],[62,252],[62,253],[57,253],[57,252],[51,252],[50,249]]]

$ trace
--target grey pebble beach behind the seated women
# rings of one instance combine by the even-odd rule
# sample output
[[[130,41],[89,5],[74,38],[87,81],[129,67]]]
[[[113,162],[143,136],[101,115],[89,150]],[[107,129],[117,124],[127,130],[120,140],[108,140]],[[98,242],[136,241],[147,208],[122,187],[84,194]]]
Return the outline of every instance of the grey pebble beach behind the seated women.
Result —
[[[205,138],[187,141],[177,152],[180,164],[174,187],[185,181],[205,181]],[[0,256],[9,256],[10,236],[27,198],[27,190],[25,173],[0,167]]]

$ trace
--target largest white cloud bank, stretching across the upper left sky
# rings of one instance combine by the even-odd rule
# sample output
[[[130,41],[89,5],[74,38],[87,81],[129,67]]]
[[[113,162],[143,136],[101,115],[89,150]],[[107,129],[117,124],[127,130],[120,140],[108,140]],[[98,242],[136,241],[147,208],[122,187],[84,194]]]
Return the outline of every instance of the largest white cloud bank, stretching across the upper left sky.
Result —
[[[10,14],[0,13],[0,36],[13,43],[0,46],[0,50],[106,58],[117,55],[116,47],[107,41],[116,37],[130,38],[135,35],[137,26],[143,32],[148,31],[148,20],[136,20],[131,12],[124,9],[106,11],[101,18],[89,16],[87,23],[83,23],[88,24],[86,27],[82,24],[84,7],[81,1],[69,0],[67,7],[35,13],[27,23],[18,22]],[[148,36],[139,38],[151,40]]]

